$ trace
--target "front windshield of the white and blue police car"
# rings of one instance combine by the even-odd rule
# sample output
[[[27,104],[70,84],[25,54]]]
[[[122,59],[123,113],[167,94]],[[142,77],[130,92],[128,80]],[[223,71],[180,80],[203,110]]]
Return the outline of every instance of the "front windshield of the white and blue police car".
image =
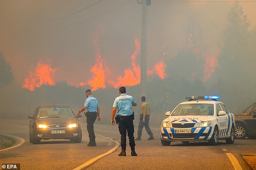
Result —
[[[180,104],[178,107],[172,112],[171,116],[179,116],[179,115],[205,115],[212,116],[213,115],[213,104]]]

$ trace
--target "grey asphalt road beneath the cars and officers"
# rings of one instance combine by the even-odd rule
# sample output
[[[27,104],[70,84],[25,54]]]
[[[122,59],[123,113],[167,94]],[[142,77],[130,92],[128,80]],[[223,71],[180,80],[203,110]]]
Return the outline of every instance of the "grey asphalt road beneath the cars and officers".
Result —
[[[0,133],[14,135],[25,139],[25,143],[0,152],[1,163],[20,163],[23,170],[72,170],[100,156],[120,142],[118,126],[94,125],[97,147],[88,147],[88,133],[86,124],[82,124],[82,143],[72,143],[68,140],[42,140],[38,145],[29,143],[29,121],[0,119]],[[135,125],[136,126],[136,125]],[[134,136],[136,137],[136,130]],[[210,146],[208,142],[172,142],[170,146],[162,146],[159,128],[152,128],[155,139],[148,141],[149,137],[143,129],[142,141],[136,141],[138,156],[130,156],[127,147],[126,157],[119,157],[121,148],[97,160],[89,170],[95,169],[234,169],[227,153],[235,156],[243,170],[251,170],[241,155],[256,154],[256,139],[235,140],[233,145],[225,140],[219,141],[217,146]],[[113,140],[107,139],[109,137]],[[18,141],[17,141],[18,143]],[[127,142],[128,144],[128,142]]]

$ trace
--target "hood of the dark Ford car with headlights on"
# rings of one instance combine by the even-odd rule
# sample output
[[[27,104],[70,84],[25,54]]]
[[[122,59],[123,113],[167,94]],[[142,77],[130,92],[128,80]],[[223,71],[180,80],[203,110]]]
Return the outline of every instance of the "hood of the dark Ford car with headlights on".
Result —
[[[76,118],[63,118],[63,117],[41,118],[36,120],[36,123],[44,123],[47,125],[56,125],[56,124],[68,125],[70,123],[77,123],[77,122],[78,120]]]

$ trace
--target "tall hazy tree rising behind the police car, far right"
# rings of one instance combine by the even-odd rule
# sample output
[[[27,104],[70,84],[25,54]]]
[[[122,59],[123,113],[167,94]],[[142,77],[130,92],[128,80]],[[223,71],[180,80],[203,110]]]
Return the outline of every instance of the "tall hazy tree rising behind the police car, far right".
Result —
[[[222,101],[226,101],[234,113],[245,107],[246,102],[247,105],[252,102],[253,92],[256,90],[256,39],[249,27],[250,22],[242,7],[239,3],[234,3],[228,13],[228,24],[224,31],[220,68],[216,72],[218,81],[212,88],[218,89],[224,98]]]

